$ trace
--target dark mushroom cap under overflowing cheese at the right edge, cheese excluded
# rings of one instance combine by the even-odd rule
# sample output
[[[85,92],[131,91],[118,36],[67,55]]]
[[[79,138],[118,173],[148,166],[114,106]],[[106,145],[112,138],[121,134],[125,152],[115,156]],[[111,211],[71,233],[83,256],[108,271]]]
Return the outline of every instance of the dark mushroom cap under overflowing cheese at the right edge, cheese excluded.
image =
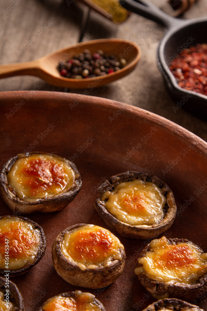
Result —
[[[178,243],[190,243],[194,244],[193,242],[187,239],[168,239],[170,244],[178,244]],[[195,245],[195,244],[194,244]],[[201,253],[204,251],[197,246]],[[143,249],[140,257],[144,257],[145,254],[150,250],[150,243]],[[142,267],[140,263],[137,264],[137,267]],[[207,273],[201,276],[196,283],[187,284],[187,283],[175,283],[175,284],[168,284],[168,282],[161,282],[156,281],[148,276],[146,276],[145,272],[137,275],[140,283],[142,286],[156,299],[162,298],[173,298],[176,297],[178,299],[183,299],[187,301],[193,301],[198,297],[198,295],[202,295],[207,290]]]

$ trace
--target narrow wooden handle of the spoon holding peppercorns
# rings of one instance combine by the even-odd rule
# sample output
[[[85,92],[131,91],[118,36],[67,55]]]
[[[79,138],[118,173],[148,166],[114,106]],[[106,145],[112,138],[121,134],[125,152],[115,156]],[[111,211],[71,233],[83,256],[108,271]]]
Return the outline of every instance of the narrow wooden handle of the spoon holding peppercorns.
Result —
[[[0,65],[0,79],[20,75],[38,76],[39,69],[38,59],[25,63]]]

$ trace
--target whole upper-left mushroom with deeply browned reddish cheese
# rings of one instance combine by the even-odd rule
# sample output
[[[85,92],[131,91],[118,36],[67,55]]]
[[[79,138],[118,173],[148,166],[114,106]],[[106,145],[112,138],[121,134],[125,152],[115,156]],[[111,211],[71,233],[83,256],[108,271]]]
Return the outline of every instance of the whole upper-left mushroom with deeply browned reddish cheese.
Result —
[[[79,193],[80,173],[70,160],[45,153],[10,158],[0,174],[0,193],[12,211],[21,214],[60,211]]]

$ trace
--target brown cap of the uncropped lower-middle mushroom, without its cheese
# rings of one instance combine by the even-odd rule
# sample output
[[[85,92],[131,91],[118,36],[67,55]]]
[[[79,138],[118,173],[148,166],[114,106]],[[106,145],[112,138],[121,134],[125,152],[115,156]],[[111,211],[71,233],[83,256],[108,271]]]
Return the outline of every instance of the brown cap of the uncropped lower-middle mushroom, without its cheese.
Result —
[[[122,273],[125,265],[126,254],[120,248],[122,260],[115,259],[109,266],[97,267],[95,269],[81,270],[79,266],[71,262],[61,251],[61,241],[65,233],[74,229],[86,226],[87,224],[77,224],[63,230],[55,239],[52,245],[52,262],[56,272],[66,282],[81,287],[92,289],[102,288],[113,283]]]

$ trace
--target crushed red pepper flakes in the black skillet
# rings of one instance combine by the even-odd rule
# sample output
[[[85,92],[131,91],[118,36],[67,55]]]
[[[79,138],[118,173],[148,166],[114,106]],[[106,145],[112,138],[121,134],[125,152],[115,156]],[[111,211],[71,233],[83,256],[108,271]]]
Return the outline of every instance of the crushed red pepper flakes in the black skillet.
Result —
[[[207,44],[184,49],[173,60],[170,70],[180,87],[207,95]]]

